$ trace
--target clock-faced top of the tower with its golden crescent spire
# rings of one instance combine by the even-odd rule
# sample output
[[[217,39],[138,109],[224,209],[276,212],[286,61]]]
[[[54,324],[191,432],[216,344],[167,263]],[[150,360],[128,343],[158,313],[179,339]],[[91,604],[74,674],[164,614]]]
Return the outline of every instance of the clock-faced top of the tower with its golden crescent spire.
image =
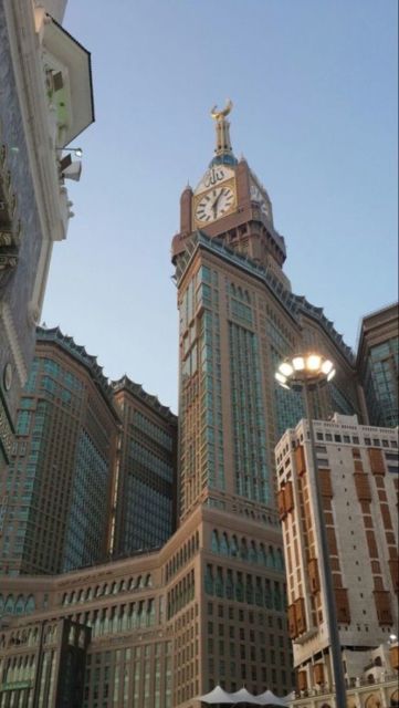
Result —
[[[282,271],[286,258],[284,238],[275,230],[272,202],[267,191],[246,160],[233,154],[230,123],[231,101],[223,111],[214,106],[214,157],[196,189],[187,187],[181,196],[180,232],[172,243],[174,259],[185,250],[192,232],[200,229],[219,238],[254,263],[272,269],[276,278],[291,289]]]

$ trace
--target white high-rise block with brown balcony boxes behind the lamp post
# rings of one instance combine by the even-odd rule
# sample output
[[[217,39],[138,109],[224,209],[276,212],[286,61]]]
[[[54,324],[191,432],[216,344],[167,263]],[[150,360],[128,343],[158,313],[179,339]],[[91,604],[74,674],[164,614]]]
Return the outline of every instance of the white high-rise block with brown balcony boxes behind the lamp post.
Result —
[[[392,671],[398,668],[396,655],[393,664],[388,660],[389,642],[398,627],[398,431],[361,426],[356,416],[342,415],[329,421],[315,420],[314,427],[317,470],[306,420],[287,430],[276,446],[298,697],[313,696],[316,708],[334,693],[317,528],[317,473],[347,685],[360,690],[367,684],[379,705],[393,705],[384,702],[381,696],[392,694],[397,685]],[[371,686],[382,679],[391,681],[381,687],[386,694]]]

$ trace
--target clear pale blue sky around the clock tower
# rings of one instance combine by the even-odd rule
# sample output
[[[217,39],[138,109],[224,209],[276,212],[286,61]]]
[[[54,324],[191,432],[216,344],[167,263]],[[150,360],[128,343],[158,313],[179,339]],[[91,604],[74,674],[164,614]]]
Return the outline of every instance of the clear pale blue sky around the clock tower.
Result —
[[[293,290],[355,346],[397,299],[397,0],[69,0],[96,122],[42,320],[177,409],[170,241],[213,155],[209,110],[266,187]]]

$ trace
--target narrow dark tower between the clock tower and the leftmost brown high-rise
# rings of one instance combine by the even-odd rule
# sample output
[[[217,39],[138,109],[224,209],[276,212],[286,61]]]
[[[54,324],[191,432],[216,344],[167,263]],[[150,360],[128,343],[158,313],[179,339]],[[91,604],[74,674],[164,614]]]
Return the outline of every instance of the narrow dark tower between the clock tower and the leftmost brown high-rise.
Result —
[[[122,420],[111,551],[159,548],[176,528],[177,417],[124,376],[113,382]]]

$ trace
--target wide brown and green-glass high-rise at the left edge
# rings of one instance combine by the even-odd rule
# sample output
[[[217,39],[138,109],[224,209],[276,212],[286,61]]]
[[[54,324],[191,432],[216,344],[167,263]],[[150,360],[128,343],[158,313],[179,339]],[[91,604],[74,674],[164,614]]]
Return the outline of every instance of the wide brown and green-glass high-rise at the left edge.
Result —
[[[2,574],[54,574],[106,556],[118,427],[96,358],[59,329],[38,327],[0,477]]]

